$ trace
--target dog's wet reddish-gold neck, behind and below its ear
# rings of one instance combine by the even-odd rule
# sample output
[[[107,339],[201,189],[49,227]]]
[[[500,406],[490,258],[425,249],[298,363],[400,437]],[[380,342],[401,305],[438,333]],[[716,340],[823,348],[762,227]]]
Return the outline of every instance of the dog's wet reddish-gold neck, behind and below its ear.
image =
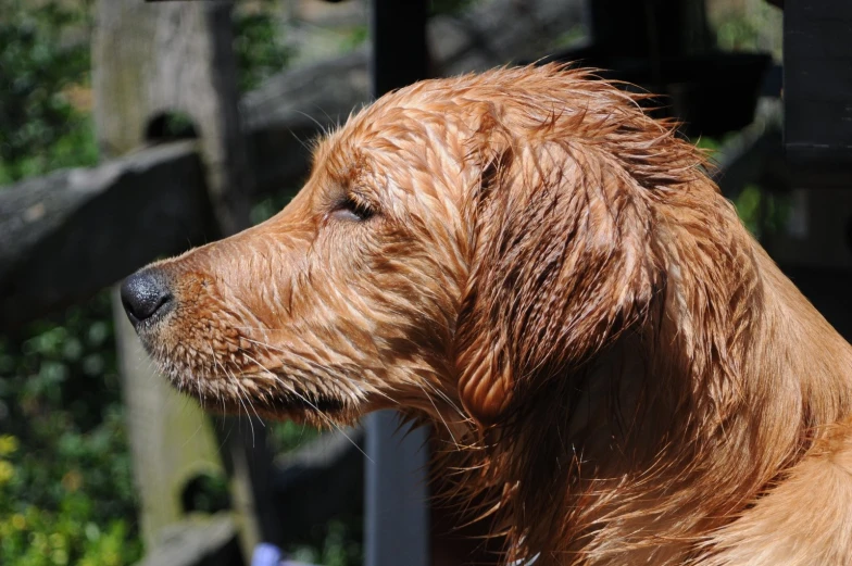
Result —
[[[493,442],[492,486],[518,556],[696,557],[702,534],[741,515],[822,426],[852,414],[849,344],[732,209],[716,206],[664,228],[666,284],[647,322],[534,395]]]

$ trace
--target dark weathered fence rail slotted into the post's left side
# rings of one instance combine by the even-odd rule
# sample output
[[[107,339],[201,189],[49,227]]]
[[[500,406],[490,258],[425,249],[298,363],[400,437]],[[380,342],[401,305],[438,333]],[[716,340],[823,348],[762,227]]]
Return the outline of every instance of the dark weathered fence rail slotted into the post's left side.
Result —
[[[151,148],[0,191],[0,328],[85,299],[215,234],[197,144]]]

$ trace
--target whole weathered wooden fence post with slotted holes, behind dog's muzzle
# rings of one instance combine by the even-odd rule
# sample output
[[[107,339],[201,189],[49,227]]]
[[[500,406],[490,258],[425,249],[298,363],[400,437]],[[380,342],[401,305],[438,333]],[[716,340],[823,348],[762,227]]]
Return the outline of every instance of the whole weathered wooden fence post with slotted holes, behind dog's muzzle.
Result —
[[[249,224],[252,178],[240,131],[230,10],[231,3],[225,1],[100,0],[92,53],[95,117],[103,159],[156,142],[170,120],[173,125],[184,117],[191,122],[185,125],[200,138],[210,213],[218,227],[209,239]],[[263,540],[277,542],[275,510],[264,496],[270,465],[264,428],[254,424],[251,430],[247,417],[225,422],[228,426],[223,428],[233,430],[217,437],[197,404],[180,398],[152,369],[117,300],[115,310],[148,548],[156,545],[162,527],[181,519],[179,493],[186,482],[200,473],[223,469],[231,480],[243,555],[248,558]],[[253,446],[247,445],[247,438]],[[217,446],[223,444],[227,450],[220,454]]]

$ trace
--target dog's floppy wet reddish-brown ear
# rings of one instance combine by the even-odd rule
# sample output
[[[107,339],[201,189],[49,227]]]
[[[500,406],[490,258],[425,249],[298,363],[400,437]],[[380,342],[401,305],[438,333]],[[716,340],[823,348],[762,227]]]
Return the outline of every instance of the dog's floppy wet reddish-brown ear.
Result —
[[[615,156],[491,122],[455,343],[461,400],[480,425],[635,324],[657,278],[649,196]]]

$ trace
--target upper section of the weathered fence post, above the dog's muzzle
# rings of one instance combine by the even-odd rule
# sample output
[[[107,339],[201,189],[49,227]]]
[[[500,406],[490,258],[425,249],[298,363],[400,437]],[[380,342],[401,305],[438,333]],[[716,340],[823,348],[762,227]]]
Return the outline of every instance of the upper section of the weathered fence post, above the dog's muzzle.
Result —
[[[188,116],[199,134],[208,193],[224,234],[248,224],[248,167],[233,53],[231,5],[138,0],[98,3],[92,40],[95,123],[101,158],[150,142],[150,125]]]

